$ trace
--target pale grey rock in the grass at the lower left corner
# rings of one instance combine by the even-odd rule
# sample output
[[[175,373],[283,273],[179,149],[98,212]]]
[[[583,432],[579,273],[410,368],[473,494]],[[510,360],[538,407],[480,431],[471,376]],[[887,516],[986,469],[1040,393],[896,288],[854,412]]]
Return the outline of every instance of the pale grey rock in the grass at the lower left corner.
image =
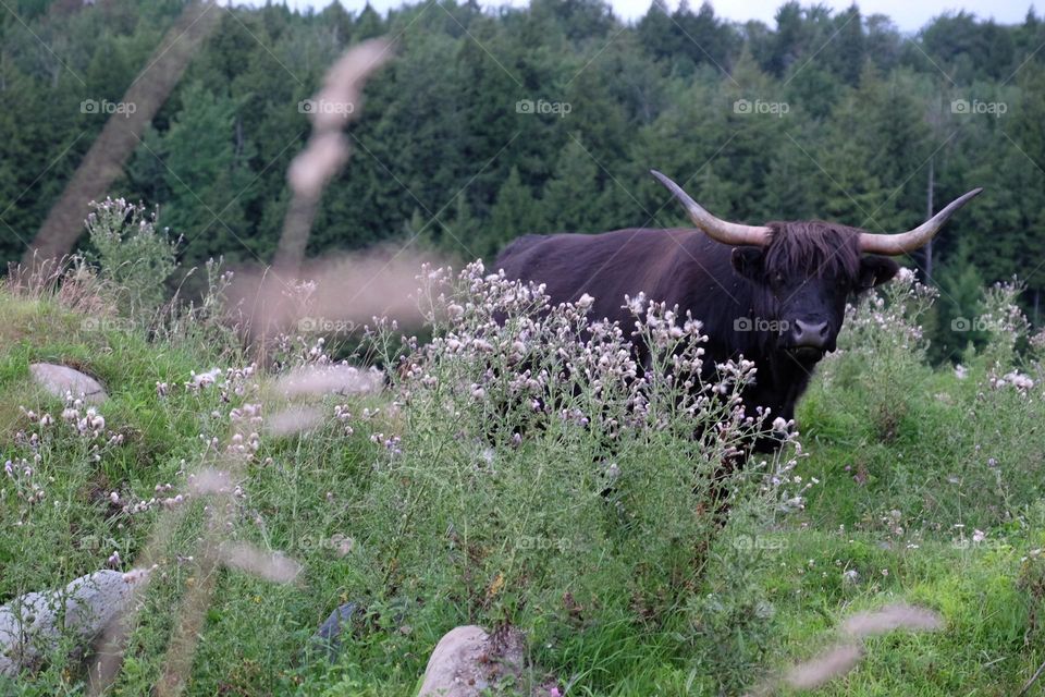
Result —
[[[97,571],[62,590],[28,592],[0,607],[0,675],[33,667],[63,633],[89,643],[119,616],[146,576],[143,571]]]

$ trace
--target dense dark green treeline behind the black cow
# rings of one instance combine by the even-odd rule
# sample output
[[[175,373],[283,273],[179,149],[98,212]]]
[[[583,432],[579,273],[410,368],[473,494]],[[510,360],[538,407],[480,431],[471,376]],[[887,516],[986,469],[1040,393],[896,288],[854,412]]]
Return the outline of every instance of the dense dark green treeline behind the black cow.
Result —
[[[184,3],[14,4],[0,15],[7,260],[101,130],[106,107],[83,103],[119,106]],[[876,232],[984,186],[915,259],[942,288],[941,323],[974,316],[982,284],[1013,274],[1042,319],[1045,26],[1033,10],[1016,26],[944,15],[912,37],[856,5],[796,2],[775,26],[662,0],[634,25],[598,0],[217,11],[114,191],[159,205],[187,264],[271,260],[286,167],[308,134],[303,100],[347,45],[388,35],[397,58],[367,86],[312,255],[416,236],[489,258],[526,232],[683,223],[650,168],[689,180],[721,217]]]

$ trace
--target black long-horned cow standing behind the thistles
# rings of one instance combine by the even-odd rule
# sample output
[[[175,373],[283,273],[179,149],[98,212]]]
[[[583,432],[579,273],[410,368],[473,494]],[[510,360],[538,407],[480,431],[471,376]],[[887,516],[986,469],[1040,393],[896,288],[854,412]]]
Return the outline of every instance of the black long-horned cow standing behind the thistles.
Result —
[[[898,271],[893,259],[877,255],[923,246],[982,191],[961,196],[914,230],[882,235],[822,221],[727,222],[653,174],[685,204],[696,230],[527,235],[509,244],[495,266],[508,278],[545,283],[553,304],[587,293],[595,298],[593,317],[622,327],[629,326],[625,295],[644,292],[677,304],[703,322],[705,367],[741,354],[753,360],[758,370],[745,403],[785,419],[794,418],[816,363],[835,350],[847,301]],[[642,365],[649,352],[635,350]]]

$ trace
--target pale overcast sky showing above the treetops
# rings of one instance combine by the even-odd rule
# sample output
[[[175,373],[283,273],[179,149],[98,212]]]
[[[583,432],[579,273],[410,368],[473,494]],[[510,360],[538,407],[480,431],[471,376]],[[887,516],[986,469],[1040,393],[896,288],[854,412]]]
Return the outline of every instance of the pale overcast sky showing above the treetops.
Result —
[[[748,20],[761,20],[773,26],[773,16],[776,9],[785,0],[717,0],[711,4],[715,8],[715,14],[737,22]],[[802,4],[812,4],[812,0],[801,0]],[[851,0],[817,0],[820,4],[834,8],[836,11],[845,10],[851,4]],[[416,2],[416,0],[415,0]],[[650,8],[651,0],[610,0],[614,12],[626,20],[635,20],[646,14]],[[702,0],[690,0],[690,7],[697,9]],[[248,4],[261,4],[262,0],[248,0]],[[329,0],[286,0],[292,8],[316,8],[322,9],[330,4]],[[358,12],[366,5],[366,0],[341,0],[342,5],[348,11]],[[379,12],[384,13],[389,8],[395,8],[403,4],[402,0],[371,0],[370,4]],[[480,0],[483,7],[509,4],[525,7],[529,4],[528,0]],[[678,0],[668,0],[668,4],[674,9],[678,5]],[[1023,21],[1026,10],[1030,7],[1030,0],[863,0],[858,1],[860,11],[863,14],[887,14],[896,22],[902,32],[914,32],[921,28],[926,22],[938,14],[945,12],[956,12],[966,10],[972,12],[982,19],[994,17],[1001,24],[1016,24]]]

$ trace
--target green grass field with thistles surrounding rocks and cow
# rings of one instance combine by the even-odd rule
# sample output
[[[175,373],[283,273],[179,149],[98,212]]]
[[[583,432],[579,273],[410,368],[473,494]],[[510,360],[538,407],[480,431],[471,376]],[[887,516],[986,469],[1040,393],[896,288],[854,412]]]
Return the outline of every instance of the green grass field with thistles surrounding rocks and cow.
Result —
[[[568,695],[772,692],[767,681],[832,646],[846,617],[905,601],[944,627],[866,639],[857,667],[817,694],[1013,695],[1045,660],[1045,393],[1040,338],[1010,302],[1005,289],[986,294],[985,316],[1000,319],[957,372],[924,358],[931,293],[901,279],[865,302],[801,404],[801,452],[767,465],[790,488],[766,490],[765,470],[738,478],[720,530],[692,510],[706,443],[674,432],[685,414],[657,414],[654,400],[648,418],[663,429],[632,428],[611,450],[602,426],[571,425],[580,402],[549,421],[560,426],[522,430],[512,419],[530,416],[485,399],[501,378],[477,382],[476,356],[497,351],[454,348],[468,340],[453,307],[416,370],[382,393],[311,396],[319,418],[286,435],[271,426],[287,402],[280,370],[244,372],[217,322],[149,337],[84,303],[4,290],[0,602],[128,570],[162,530],[113,695],[148,694],[176,653],[182,598],[211,583],[185,694],[408,696],[442,634],[472,622],[522,628],[533,677]],[[467,325],[474,308],[462,307]],[[271,365],[284,371],[329,366],[315,338],[280,351]],[[104,424],[78,428],[65,411],[87,407],[36,388],[35,362],[101,380]],[[212,384],[197,377],[212,368]],[[237,440],[254,404],[257,437]],[[224,467],[230,447],[242,466],[228,497],[175,499],[190,475]],[[803,506],[782,506],[796,491]],[[208,572],[205,506],[224,506],[222,539],[296,560],[295,583]],[[347,601],[361,611],[331,663],[309,637]],[[0,678],[0,693],[85,694],[70,648]]]

